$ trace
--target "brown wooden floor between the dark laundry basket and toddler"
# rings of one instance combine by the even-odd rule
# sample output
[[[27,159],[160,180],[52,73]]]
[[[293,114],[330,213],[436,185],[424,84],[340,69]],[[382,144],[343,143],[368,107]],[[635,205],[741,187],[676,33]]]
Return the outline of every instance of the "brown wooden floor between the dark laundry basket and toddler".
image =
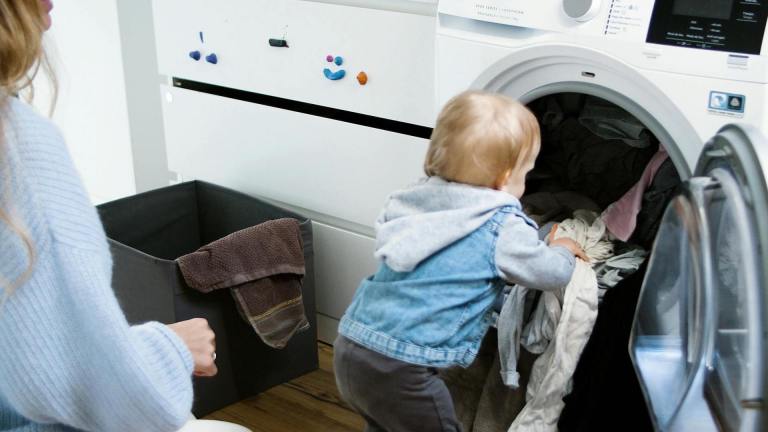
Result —
[[[336,390],[333,348],[318,344],[320,369],[207,417],[243,425],[253,432],[359,432],[365,422]]]

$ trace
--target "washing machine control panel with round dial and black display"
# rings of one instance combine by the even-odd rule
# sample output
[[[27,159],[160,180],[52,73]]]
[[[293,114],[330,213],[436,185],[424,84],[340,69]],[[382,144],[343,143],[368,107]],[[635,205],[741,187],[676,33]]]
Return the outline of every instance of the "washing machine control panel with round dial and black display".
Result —
[[[768,0],[441,0],[438,12],[536,30],[759,55]]]

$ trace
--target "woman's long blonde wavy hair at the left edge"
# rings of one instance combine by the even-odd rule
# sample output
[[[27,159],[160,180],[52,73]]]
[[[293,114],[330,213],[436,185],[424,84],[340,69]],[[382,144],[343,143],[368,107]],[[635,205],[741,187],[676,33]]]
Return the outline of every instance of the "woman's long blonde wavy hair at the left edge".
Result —
[[[0,288],[7,298],[32,275],[35,248],[23,223],[16,220],[11,208],[11,172],[8,166],[5,127],[10,98],[34,96],[32,81],[42,68],[49,72],[55,100],[56,81],[43,49],[46,29],[45,11],[40,0],[0,0],[0,224],[19,236],[27,250],[27,267],[19,275],[1,275]],[[52,104],[53,106],[54,104]]]

